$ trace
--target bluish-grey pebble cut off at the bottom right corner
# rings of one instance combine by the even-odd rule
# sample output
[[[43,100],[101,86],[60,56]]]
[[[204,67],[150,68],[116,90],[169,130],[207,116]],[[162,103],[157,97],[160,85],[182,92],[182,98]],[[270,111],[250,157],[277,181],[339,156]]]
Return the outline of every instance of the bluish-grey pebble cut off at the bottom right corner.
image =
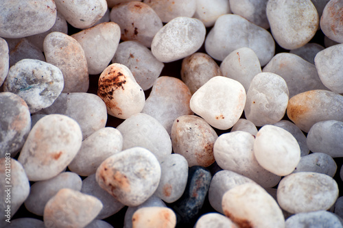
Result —
[[[342,228],[340,218],[331,212],[320,210],[318,212],[307,212],[294,214],[287,218],[285,228],[307,228],[307,227],[330,227]]]

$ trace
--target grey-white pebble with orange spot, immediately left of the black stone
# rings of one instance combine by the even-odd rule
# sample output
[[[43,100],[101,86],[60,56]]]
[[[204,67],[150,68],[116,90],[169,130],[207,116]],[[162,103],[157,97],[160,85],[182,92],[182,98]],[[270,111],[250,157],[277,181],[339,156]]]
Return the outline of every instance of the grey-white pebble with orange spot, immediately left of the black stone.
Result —
[[[185,157],[173,153],[161,162],[161,179],[154,193],[166,203],[173,203],[182,196],[187,185],[188,163]]]

